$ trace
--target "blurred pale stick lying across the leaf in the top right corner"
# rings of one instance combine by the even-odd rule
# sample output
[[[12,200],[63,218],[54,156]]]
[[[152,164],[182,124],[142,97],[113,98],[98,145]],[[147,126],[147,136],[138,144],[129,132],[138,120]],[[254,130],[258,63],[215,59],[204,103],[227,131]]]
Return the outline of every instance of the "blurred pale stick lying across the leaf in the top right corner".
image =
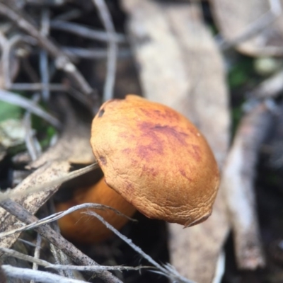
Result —
[[[258,20],[250,23],[250,25],[247,26],[245,32],[241,35],[238,35],[238,37],[234,38],[233,40],[222,40],[221,42],[219,42],[220,49],[228,50],[229,48],[239,45],[242,42],[249,40],[251,37],[258,35],[262,32],[262,30],[265,30],[265,28],[274,23],[282,14],[282,6],[280,0],[269,0],[269,2],[270,11],[267,11],[260,18],[258,18]]]

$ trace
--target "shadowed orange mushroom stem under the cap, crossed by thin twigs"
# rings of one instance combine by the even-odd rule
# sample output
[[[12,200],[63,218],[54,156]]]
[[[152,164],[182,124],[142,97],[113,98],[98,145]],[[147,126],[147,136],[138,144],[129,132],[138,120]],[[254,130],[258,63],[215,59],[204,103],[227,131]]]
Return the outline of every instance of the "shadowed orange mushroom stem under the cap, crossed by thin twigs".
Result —
[[[132,204],[129,204],[115,190],[106,185],[104,178],[95,185],[78,188],[71,200],[59,202],[55,208],[57,212],[62,212],[74,205],[86,202],[108,205],[129,217],[136,212]],[[89,210],[91,209],[79,209],[58,220],[61,233],[65,238],[76,243],[98,243],[112,235],[112,231],[107,229],[96,217],[81,213]],[[121,229],[128,221],[126,217],[109,209],[95,209],[95,212],[103,216],[105,221],[108,221],[115,229]]]

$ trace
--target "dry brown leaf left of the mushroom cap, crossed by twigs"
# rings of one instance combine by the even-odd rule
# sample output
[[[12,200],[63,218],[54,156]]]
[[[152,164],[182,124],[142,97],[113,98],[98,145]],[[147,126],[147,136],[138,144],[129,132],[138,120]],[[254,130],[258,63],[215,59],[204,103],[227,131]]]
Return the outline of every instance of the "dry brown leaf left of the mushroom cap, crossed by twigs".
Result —
[[[33,173],[28,175],[22,183],[13,189],[13,192],[21,194],[28,188],[42,183],[48,183],[56,180],[69,171],[70,163],[92,163],[94,156],[91,152],[89,144],[90,125],[84,125],[71,112],[71,108],[64,101],[64,107],[69,109],[67,114],[67,123],[62,136],[52,148],[42,154],[37,161],[32,164],[33,168],[37,168]],[[31,195],[19,197],[17,202],[20,203],[29,212],[35,213],[42,204],[44,204],[57,191],[59,185],[50,187],[49,190],[36,192]],[[13,229],[18,220],[11,216],[4,209],[0,208],[1,227],[0,231],[8,231]],[[1,247],[10,247],[18,238],[19,234],[1,238]]]

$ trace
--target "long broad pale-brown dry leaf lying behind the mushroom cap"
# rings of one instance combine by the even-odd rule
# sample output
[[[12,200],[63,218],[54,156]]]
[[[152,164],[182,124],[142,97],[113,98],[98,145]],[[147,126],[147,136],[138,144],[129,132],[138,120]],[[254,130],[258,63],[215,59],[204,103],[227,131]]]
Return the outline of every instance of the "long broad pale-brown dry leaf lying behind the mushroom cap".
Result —
[[[229,144],[224,66],[197,6],[124,0],[144,95],[189,117],[207,137],[221,167]],[[212,216],[189,229],[170,224],[173,265],[196,282],[212,282],[229,231],[220,190]]]

